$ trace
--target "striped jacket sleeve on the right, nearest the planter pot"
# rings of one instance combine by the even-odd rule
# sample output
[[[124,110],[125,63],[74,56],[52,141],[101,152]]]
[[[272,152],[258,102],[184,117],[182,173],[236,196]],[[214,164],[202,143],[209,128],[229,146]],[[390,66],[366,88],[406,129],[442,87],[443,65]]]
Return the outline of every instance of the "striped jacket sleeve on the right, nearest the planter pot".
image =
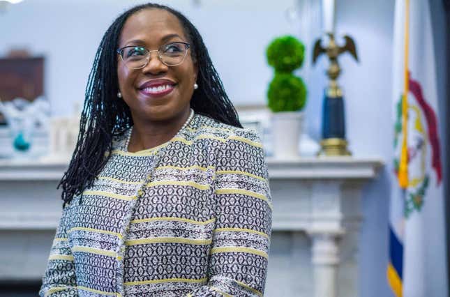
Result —
[[[218,153],[216,227],[209,281],[188,296],[263,296],[271,235],[271,195],[259,137],[232,136]]]

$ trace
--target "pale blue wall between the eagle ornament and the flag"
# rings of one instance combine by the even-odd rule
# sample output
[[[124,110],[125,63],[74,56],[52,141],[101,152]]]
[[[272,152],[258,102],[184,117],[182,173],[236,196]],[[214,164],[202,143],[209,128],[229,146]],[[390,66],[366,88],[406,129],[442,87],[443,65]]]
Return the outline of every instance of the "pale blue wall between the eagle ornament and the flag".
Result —
[[[359,63],[350,55],[340,59],[350,147],[357,155],[382,157],[389,168],[393,148],[391,56],[395,1],[337,2],[336,29],[356,40],[360,59]],[[363,192],[359,255],[360,271],[364,271],[360,278],[363,297],[393,296],[386,277],[391,176],[387,168]]]

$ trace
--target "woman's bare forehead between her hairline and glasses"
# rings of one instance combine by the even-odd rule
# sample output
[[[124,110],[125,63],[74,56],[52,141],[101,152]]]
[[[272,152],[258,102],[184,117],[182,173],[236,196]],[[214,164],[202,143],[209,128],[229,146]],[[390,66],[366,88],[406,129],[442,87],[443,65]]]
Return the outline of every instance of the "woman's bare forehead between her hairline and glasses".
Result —
[[[119,45],[133,40],[142,40],[146,45],[158,45],[169,34],[177,34],[186,40],[183,27],[175,15],[156,8],[144,9],[128,17],[123,24]]]

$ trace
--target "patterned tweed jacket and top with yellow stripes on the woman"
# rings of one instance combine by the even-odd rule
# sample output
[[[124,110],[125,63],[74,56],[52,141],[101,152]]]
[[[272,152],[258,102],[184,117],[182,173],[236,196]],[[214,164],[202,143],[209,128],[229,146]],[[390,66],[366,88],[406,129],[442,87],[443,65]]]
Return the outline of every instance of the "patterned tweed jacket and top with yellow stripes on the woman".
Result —
[[[136,153],[129,132],[63,209],[40,296],[262,296],[272,206],[255,132],[196,114]]]

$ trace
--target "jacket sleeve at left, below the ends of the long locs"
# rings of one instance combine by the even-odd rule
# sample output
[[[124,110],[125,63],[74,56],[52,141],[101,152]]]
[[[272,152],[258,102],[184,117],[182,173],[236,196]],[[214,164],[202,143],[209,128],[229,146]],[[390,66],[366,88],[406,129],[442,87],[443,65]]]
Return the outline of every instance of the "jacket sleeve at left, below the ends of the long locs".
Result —
[[[63,209],[57,233],[54,236],[47,269],[39,296],[78,296],[73,254],[68,245],[68,206]]]

